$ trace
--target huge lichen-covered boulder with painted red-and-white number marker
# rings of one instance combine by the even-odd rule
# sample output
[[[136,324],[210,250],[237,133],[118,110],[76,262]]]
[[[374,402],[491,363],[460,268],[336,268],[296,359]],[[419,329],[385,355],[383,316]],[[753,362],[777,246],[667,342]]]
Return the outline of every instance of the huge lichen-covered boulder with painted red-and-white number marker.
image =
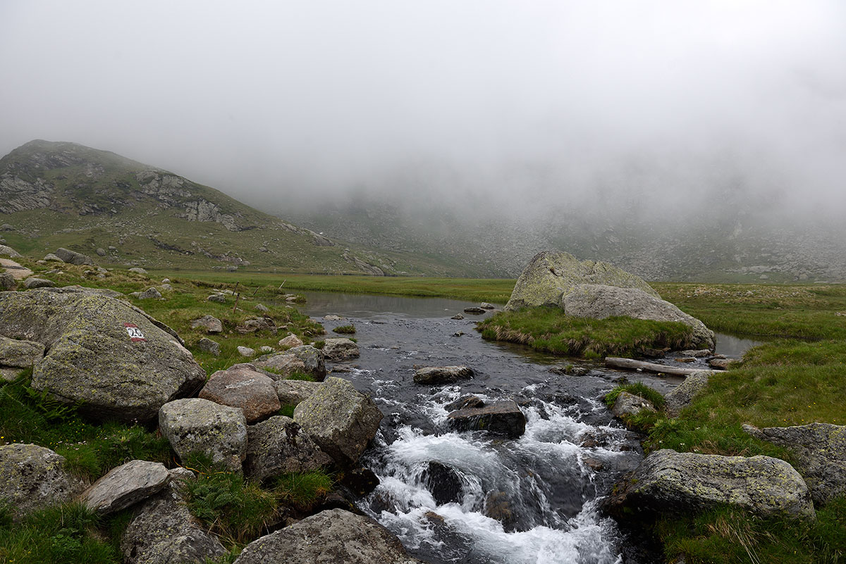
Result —
[[[84,291],[0,293],[0,334],[44,344],[32,388],[93,418],[154,419],[206,372],[172,330],[124,301]]]

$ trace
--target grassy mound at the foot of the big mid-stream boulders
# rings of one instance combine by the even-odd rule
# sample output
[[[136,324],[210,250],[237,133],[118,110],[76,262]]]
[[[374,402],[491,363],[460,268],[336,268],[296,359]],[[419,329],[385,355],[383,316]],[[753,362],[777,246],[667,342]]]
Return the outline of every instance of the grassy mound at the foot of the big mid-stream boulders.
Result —
[[[499,312],[477,327],[485,339],[528,344],[553,355],[638,355],[644,349],[689,349],[693,329],[684,323],[657,322],[631,317],[589,319],[569,317],[558,307],[525,308]]]

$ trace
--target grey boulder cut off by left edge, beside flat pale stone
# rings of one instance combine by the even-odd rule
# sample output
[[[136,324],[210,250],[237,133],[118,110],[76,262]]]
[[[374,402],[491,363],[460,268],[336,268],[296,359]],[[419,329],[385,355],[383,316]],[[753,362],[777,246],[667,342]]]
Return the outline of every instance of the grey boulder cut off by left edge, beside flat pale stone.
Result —
[[[85,488],[65,468],[63,456],[33,444],[0,446],[0,502],[15,520],[74,498]]]

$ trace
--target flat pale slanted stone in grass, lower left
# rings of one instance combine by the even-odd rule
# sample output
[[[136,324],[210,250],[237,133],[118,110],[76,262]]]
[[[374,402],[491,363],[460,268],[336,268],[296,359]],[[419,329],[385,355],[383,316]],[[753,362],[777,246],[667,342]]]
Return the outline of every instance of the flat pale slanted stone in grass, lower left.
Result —
[[[80,495],[85,507],[100,515],[118,512],[162,491],[170,481],[164,464],[131,460],[109,470]]]

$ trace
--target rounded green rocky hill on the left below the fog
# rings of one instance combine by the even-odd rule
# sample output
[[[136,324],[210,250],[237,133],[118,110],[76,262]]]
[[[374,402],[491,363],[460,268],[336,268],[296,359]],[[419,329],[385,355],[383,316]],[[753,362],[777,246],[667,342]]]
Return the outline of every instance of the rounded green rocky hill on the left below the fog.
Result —
[[[172,172],[74,143],[31,141],[0,159],[0,224],[10,245],[39,258],[68,247],[126,266],[461,274],[437,260],[333,241]]]

